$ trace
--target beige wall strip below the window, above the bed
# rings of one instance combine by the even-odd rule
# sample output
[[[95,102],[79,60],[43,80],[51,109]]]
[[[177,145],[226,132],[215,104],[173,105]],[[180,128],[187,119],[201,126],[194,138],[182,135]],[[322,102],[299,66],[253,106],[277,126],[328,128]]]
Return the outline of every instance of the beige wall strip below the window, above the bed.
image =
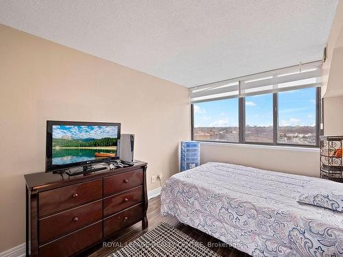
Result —
[[[201,163],[229,162],[270,171],[319,176],[319,150],[296,147],[270,147],[202,143]]]

